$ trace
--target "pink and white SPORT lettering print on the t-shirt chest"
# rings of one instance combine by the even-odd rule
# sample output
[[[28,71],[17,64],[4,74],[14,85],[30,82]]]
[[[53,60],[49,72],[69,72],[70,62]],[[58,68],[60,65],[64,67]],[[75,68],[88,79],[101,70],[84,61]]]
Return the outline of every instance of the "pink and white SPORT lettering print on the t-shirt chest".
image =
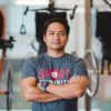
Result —
[[[70,69],[40,69],[38,72],[40,82],[47,81],[54,84],[65,84],[70,78]]]

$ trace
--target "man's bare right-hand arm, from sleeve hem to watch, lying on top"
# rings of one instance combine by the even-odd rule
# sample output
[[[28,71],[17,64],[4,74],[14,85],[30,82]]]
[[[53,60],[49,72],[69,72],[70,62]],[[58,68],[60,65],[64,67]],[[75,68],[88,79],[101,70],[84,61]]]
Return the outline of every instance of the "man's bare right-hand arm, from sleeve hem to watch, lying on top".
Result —
[[[82,97],[88,85],[89,79],[87,77],[71,78],[68,84],[50,84],[47,87],[47,91],[64,99],[72,99]]]

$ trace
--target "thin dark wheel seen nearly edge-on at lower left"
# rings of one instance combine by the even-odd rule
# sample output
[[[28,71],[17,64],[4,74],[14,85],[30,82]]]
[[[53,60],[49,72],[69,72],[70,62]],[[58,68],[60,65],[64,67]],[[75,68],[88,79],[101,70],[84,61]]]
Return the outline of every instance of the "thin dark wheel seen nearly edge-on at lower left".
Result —
[[[8,81],[7,81],[7,111],[10,111],[12,108],[12,74],[9,69]]]

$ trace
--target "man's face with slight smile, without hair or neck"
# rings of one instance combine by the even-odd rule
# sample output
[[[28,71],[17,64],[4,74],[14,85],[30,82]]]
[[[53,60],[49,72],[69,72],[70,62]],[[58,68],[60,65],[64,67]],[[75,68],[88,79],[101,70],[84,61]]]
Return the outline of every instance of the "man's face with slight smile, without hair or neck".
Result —
[[[64,50],[68,41],[67,31],[62,23],[53,22],[49,24],[43,40],[51,50]]]

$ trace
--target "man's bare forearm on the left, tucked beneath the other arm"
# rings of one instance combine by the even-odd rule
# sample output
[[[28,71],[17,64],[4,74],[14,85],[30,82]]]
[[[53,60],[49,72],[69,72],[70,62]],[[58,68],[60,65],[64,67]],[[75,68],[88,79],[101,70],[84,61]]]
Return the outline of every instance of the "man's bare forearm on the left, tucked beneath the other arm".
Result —
[[[61,99],[56,94],[48,93],[41,91],[38,88],[32,88],[32,87],[28,88],[27,92],[24,92],[24,97],[27,101],[38,101],[38,102],[51,102]]]

